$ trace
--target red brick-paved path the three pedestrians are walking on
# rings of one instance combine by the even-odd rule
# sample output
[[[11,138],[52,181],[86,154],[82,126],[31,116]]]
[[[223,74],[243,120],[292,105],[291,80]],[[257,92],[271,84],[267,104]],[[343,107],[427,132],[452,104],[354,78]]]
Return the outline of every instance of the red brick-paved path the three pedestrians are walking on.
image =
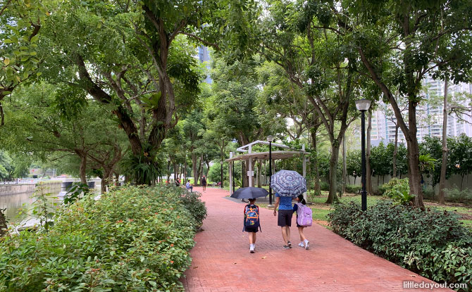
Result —
[[[201,188],[194,187],[194,191]],[[292,220],[292,249],[282,248],[273,211],[261,208],[262,232],[256,253],[249,253],[242,232],[244,203],[230,201],[229,191],[207,187],[202,195],[208,217],[195,237],[192,265],[181,281],[186,291],[452,291],[446,288],[404,289],[403,281],[424,277],[373,255],[318,224],[305,229],[310,249],[297,246]],[[256,202],[257,203],[257,202]]]

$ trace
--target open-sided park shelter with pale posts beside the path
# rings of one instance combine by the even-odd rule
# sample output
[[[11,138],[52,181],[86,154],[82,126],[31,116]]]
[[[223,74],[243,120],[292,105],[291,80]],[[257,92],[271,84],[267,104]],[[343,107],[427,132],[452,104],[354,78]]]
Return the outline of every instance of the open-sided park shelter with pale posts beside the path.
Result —
[[[252,152],[252,146],[254,144],[263,144],[263,145],[270,145],[269,142],[267,141],[261,141],[257,140],[252,143],[249,143],[247,145],[241,146],[240,148],[237,148],[237,151],[244,152],[242,155],[235,155],[235,153],[230,152],[230,158],[228,158],[227,161],[230,163],[230,195],[234,193],[235,189],[232,186],[232,180],[234,179],[233,173],[232,173],[232,165],[235,163],[237,160],[242,160],[246,161],[247,163],[247,177],[249,180],[249,186],[254,186],[254,164],[256,161],[262,162],[263,160],[269,160],[269,154],[271,156],[271,159],[273,160],[280,160],[280,159],[287,159],[287,158],[292,158],[294,155],[302,155],[302,163],[303,163],[303,177],[306,177],[306,155],[309,154],[309,152],[305,151],[305,145],[302,145],[302,151],[297,151],[295,149],[290,148],[289,146],[283,145],[283,144],[276,144],[276,143],[271,143],[272,146],[278,147],[278,148],[285,148],[287,150],[284,151],[269,151],[266,152]],[[275,163],[272,163],[272,174],[275,173]],[[259,177],[259,176],[258,176]]]

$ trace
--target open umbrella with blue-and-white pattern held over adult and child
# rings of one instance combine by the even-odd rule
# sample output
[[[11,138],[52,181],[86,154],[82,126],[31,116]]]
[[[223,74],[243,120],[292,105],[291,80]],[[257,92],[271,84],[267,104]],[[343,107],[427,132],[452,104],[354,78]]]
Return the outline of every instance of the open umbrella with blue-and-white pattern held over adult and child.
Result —
[[[293,170],[280,170],[272,175],[271,188],[282,197],[296,197],[306,191],[306,179]]]

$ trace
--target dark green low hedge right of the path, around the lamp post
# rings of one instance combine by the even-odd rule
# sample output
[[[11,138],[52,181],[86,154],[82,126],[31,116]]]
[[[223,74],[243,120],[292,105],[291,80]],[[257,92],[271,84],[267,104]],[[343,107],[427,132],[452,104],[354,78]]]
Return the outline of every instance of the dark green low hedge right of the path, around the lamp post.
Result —
[[[357,246],[433,281],[472,284],[472,231],[453,212],[389,201],[362,212],[349,203],[335,205],[328,221]]]

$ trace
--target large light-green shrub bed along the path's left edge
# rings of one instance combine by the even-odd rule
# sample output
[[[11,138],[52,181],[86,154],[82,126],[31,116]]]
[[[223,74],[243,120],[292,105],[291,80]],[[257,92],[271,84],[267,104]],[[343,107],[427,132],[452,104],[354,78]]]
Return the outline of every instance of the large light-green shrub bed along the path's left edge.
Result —
[[[197,222],[180,194],[125,186],[63,208],[49,234],[4,237],[0,291],[182,291]]]

